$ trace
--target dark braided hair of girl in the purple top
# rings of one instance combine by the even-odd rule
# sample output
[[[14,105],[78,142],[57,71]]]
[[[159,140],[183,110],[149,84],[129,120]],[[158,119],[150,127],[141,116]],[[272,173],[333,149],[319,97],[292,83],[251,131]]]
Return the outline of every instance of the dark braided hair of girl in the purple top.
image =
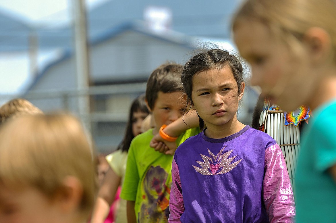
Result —
[[[229,66],[233,72],[235,80],[238,85],[238,94],[240,94],[243,79],[243,66],[238,58],[222,49],[210,49],[208,51],[200,52],[192,57],[185,65],[182,71],[181,81],[184,92],[187,95],[187,104],[192,105],[191,98],[193,92],[193,77],[202,72],[212,69],[222,69]],[[205,127],[203,119],[200,118],[200,128]]]

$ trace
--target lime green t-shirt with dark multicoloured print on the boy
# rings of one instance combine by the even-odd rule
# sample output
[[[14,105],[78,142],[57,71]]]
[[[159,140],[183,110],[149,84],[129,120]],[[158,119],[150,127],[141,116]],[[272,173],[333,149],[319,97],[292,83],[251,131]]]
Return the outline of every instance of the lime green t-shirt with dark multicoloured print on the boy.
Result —
[[[180,145],[199,128],[188,129],[177,140]],[[172,155],[150,147],[153,129],[136,136],[128,150],[126,174],[120,197],[135,201],[137,222],[168,222]]]

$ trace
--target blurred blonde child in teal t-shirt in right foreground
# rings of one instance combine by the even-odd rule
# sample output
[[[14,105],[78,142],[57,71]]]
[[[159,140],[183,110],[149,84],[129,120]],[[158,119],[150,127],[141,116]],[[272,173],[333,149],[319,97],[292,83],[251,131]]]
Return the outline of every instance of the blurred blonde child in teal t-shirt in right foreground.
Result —
[[[335,24],[333,0],[248,0],[233,19],[251,84],[285,111],[312,111],[297,163],[298,223],[336,222]]]

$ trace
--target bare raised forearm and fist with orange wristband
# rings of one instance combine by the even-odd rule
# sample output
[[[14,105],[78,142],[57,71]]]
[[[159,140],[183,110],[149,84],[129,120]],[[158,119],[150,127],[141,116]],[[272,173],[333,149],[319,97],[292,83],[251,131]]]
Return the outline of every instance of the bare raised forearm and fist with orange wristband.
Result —
[[[197,115],[196,110],[190,109],[183,116],[179,117],[177,120],[167,125],[163,129],[163,132],[166,133],[168,136],[178,137],[179,135],[184,133],[187,129],[198,127],[199,120],[200,119]],[[161,126],[158,126],[158,128],[160,127]],[[159,151],[165,154],[170,154],[170,155],[174,155],[174,152],[177,148],[175,142],[165,141],[164,139],[162,139],[160,134],[156,134],[153,137],[150,143],[150,146],[154,148],[156,151]]]

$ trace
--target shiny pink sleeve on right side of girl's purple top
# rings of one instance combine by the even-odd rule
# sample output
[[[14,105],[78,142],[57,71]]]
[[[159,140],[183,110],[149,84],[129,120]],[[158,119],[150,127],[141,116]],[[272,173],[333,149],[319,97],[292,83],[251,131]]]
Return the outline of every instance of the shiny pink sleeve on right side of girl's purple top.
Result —
[[[292,223],[295,217],[294,196],[284,155],[278,144],[265,151],[263,200],[270,223]]]

